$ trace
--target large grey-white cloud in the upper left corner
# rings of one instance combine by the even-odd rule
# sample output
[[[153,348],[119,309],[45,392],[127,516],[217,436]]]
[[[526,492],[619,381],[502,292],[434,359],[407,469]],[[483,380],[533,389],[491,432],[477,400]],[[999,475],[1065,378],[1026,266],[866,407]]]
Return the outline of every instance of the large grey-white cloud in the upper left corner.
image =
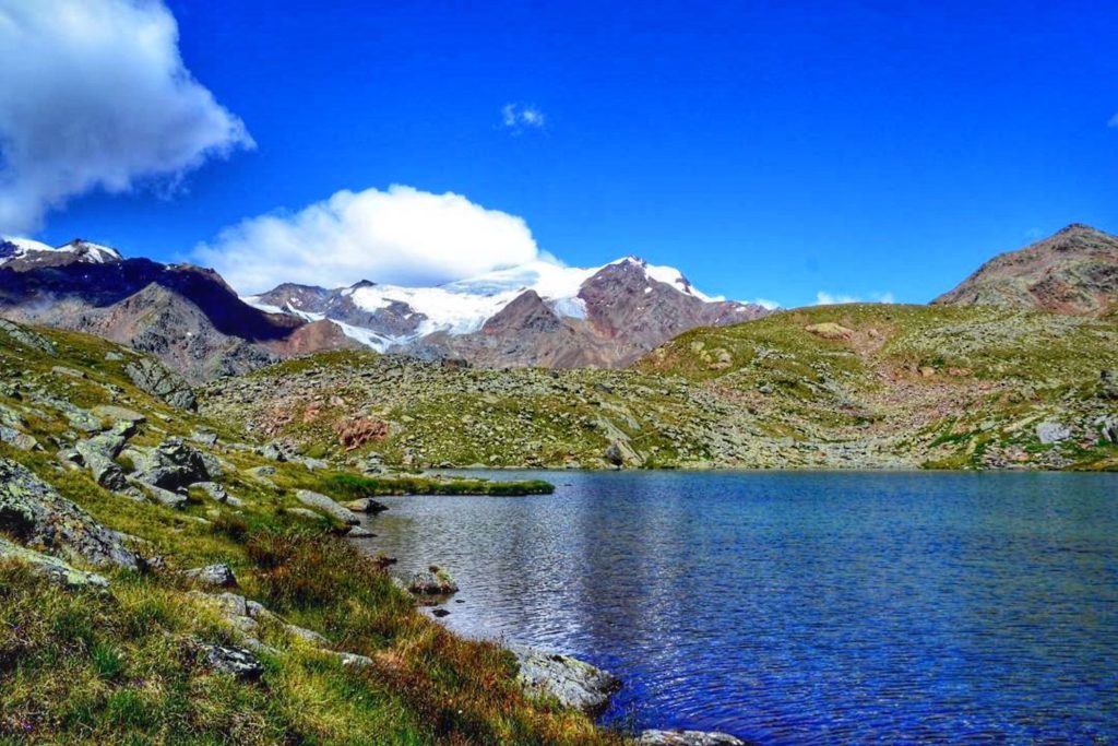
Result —
[[[178,41],[161,0],[0,0],[0,230],[254,145]]]

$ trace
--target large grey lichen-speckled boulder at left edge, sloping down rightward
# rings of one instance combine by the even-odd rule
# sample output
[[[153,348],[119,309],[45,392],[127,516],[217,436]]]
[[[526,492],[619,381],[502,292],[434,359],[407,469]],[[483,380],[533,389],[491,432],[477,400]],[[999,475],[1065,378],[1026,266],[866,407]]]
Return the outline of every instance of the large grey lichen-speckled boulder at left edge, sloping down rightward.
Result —
[[[143,560],[88,513],[25,466],[0,459],[0,530],[30,548],[92,565],[143,568]]]

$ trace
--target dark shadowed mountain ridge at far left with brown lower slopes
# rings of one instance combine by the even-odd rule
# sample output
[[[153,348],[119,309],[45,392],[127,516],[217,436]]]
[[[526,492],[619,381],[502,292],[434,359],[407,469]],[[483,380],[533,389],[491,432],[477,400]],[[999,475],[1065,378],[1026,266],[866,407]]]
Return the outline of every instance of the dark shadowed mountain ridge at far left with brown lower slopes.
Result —
[[[333,324],[306,329],[243,303],[211,270],[126,259],[83,240],[0,240],[0,315],[129,344],[193,381],[352,346]]]

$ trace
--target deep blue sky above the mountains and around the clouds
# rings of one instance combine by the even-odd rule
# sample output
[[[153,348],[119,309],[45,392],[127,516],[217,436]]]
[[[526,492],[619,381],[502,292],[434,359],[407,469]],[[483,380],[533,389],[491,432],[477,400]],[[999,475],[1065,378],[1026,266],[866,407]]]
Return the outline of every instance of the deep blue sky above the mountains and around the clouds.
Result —
[[[1118,232],[1114,2],[167,7],[255,148],[72,196],[35,236],[197,257],[406,185],[519,216],[569,264],[633,253],[793,306],[925,302],[1068,223]]]

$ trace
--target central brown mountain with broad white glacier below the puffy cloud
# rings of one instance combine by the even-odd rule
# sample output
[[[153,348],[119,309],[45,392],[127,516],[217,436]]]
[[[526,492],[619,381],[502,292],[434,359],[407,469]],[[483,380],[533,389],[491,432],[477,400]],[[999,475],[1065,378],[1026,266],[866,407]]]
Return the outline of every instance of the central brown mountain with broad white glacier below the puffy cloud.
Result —
[[[380,351],[484,365],[624,365],[688,329],[767,312],[704,295],[679,270],[635,256],[590,268],[537,261],[434,287],[284,284],[244,300],[329,319]]]

